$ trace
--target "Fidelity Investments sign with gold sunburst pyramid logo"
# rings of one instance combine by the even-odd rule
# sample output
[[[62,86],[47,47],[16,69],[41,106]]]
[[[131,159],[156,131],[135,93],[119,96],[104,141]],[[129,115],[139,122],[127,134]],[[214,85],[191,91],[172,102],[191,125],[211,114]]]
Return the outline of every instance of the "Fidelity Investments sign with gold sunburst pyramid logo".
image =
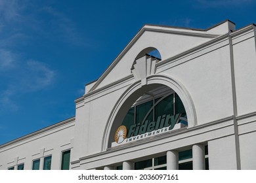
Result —
[[[116,130],[116,142],[112,142],[112,147],[126,144],[128,142],[138,141],[140,139],[152,137],[186,126],[186,124],[179,123],[179,120],[186,119],[181,118],[181,114],[175,114],[173,116],[170,114],[163,114],[163,116],[158,116],[158,120],[156,122],[146,120],[142,124],[138,123],[131,125],[129,129],[127,129],[125,125],[121,125]]]

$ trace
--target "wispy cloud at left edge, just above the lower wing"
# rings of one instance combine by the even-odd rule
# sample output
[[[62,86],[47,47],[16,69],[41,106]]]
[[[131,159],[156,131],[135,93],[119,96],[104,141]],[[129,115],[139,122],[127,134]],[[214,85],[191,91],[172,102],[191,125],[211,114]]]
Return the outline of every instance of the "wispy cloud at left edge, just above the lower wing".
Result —
[[[11,52],[9,54],[11,55]],[[17,110],[15,95],[48,89],[55,81],[56,72],[41,61],[12,60],[12,63],[15,63],[15,67],[4,73],[0,72],[2,82],[5,84],[0,88],[0,109],[2,110],[3,108]]]

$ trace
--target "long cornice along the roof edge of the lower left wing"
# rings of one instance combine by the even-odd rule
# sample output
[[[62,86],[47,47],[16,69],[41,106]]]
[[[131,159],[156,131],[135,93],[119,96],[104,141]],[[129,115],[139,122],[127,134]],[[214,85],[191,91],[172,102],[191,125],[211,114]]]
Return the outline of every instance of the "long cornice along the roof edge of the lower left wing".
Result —
[[[38,135],[38,134],[40,134],[40,133],[43,133],[43,132],[48,131],[48,130],[50,130],[50,129],[54,129],[54,128],[56,128],[56,127],[60,127],[61,125],[68,124],[68,123],[73,122],[73,121],[75,121],[75,116],[73,116],[73,117],[71,117],[71,118],[68,118],[68,119],[66,119],[66,120],[60,121],[60,122],[58,122],[58,123],[56,123],[56,124],[49,125],[49,126],[47,126],[47,127],[44,127],[44,128],[42,128],[42,129],[39,129],[39,130],[37,130],[37,131],[34,131],[34,132],[29,133],[29,134],[27,134],[27,135],[24,135],[24,136],[22,136],[22,137],[19,137],[18,139],[14,139],[14,140],[12,140],[12,141],[6,142],[5,144],[1,144],[1,145],[0,145],[0,149],[3,148],[3,147],[5,147],[5,146],[9,146],[9,145],[14,144],[14,143],[16,143],[16,142],[23,141],[23,140],[25,140],[25,139],[28,139],[28,138],[30,138],[30,137],[33,137],[34,135]]]

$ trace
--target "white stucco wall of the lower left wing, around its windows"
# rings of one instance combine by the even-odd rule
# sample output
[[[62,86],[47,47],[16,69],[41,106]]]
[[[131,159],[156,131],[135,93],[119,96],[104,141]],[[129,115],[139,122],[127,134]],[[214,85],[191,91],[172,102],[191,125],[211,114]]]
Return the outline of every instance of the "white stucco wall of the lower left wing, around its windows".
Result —
[[[51,169],[60,169],[61,152],[71,149],[74,139],[73,122],[49,127],[26,139],[17,139],[15,143],[4,144],[0,149],[0,169],[8,169],[24,163],[24,169],[32,169],[33,159],[52,156]],[[16,161],[18,159],[18,161]],[[15,162],[16,161],[16,162]],[[40,162],[43,165],[43,161]],[[41,166],[42,167],[42,166]]]

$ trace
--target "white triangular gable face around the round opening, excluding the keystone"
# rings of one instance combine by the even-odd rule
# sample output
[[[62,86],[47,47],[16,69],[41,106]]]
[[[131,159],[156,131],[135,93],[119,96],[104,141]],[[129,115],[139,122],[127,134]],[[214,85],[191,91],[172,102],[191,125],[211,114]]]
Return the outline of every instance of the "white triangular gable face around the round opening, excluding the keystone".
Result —
[[[161,61],[164,61],[218,36],[219,34],[211,33],[211,31],[145,25],[93,84],[89,92],[130,76],[135,58],[138,58],[138,55],[146,48],[156,48],[160,52]]]

